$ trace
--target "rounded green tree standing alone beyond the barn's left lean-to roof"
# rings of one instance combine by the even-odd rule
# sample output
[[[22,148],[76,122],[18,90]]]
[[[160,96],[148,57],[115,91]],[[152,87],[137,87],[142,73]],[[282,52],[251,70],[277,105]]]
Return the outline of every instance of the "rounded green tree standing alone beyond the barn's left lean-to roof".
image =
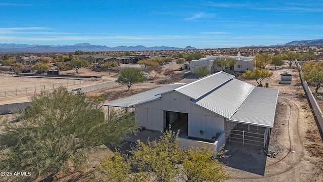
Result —
[[[135,83],[142,83],[146,80],[146,77],[137,68],[123,68],[120,70],[118,79],[116,80],[117,83],[127,85],[128,90],[130,87]]]

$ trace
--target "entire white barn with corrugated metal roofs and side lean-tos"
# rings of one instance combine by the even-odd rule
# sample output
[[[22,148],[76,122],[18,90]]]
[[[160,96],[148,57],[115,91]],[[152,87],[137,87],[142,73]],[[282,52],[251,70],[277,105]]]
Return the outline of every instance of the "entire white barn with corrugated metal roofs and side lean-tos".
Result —
[[[187,84],[172,84],[104,104],[135,108],[138,125],[149,130],[180,129],[184,147],[227,141],[266,148],[274,126],[278,89],[256,87],[218,72]],[[252,137],[250,137],[252,135]]]

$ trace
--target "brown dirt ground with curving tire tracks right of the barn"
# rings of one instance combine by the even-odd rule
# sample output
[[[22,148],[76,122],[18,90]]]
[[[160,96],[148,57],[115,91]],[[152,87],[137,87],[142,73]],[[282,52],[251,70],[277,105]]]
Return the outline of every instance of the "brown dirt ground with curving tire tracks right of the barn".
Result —
[[[224,160],[233,177],[229,181],[323,181],[323,142],[298,71],[295,67],[288,69],[287,65],[271,71],[274,76],[264,82],[268,82],[269,87],[279,88],[279,97],[268,150],[279,154],[271,158],[262,154],[261,148],[228,146],[231,150],[228,154],[236,159]],[[279,84],[280,74],[285,72],[293,75],[290,85]],[[254,80],[246,81],[256,85]],[[251,160],[251,165],[244,158]],[[261,162],[264,164],[259,165]]]

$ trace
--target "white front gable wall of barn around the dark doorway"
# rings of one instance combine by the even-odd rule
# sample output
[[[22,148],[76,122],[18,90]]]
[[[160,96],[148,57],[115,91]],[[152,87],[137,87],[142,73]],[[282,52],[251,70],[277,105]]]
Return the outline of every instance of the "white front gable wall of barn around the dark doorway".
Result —
[[[159,100],[136,106],[135,114],[139,126],[164,130],[164,110],[188,113],[188,136],[194,138],[211,140],[225,128],[223,117],[193,104],[190,98],[175,91],[161,95]],[[203,131],[202,134],[200,130]]]

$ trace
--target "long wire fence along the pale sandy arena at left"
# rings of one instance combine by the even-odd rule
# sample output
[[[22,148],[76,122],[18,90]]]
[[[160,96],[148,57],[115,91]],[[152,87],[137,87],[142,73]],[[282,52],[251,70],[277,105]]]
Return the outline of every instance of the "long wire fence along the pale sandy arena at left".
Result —
[[[88,81],[89,80],[71,80],[71,81],[66,81],[62,83],[52,83],[47,85],[32,86],[32,87],[20,88],[15,90],[6,90],[6,91],[0,92],[0,98],[36,93],[41,90],[55,89],[60,86],[71,86],[75,84],[86,83]]]

